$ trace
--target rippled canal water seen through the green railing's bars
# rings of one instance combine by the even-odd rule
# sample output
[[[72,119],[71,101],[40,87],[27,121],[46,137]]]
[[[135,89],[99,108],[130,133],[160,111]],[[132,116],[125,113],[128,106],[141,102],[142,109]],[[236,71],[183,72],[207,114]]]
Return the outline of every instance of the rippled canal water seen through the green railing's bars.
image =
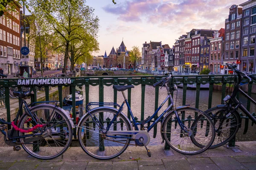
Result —
[[[84,89],[84,88],[83,88]],[[89,102],[98,102],[99,101],[99,86],[90,86],[89,90]],[[85,94],[85,92],[84,92]],[[125,91],[126,97],[128,97],[127,91]],[[158,98],[158,105],[160,105],[163,100],[167,96],[166,88],[159,88],[159,98]],[[176,106],[182,105],[182,96],[183,96],[183,89],[179,88],[178,91],[174,93],[174,102]],[[205,111],[208,109],[208,97],[209,91],[208,90],[201,90],[200,91],[200,101],[199,101],[199,109]],[[254,100],[256,100],[256,94],[252,94],[251,96]],[[195,90],[187,90],[186,94],[186,105],[190,105],[195,107],[195,98],[196,98],[196,91]],[[122,104],[124,101],[122,93],[117,92],[117,103],[119,105]],[[151,116],[154,113],[154,101],[155,101],[155,89],[153,86],[146,85],[145,88],[145,115],[144,119],[148,116]],[[247,99],[240,95],[240,101],[246,107]],[[85,101],[84,101],[85,102]],[[104,102],[113,102],[113,85],[111,86],[104,86]],[[158,115],[163,113],[163,111],[167,107],[167,103],[163,106],[163,108],[158,112]],[[212,107],[215,105],[221,104],[221,91],[213,91],[212,93]],[[133,112],[134,116],[136,116],[139,120],[141,118],[141,85],[135,86],[131,90],[131,111]],[[241,112],[241,111],[240,111]],[[239,113],[240,113],[239,112]],[[256,106],[251,103],[250,112],[256,112]],[[124,106],[123,113],[127,115],[127,106]],[[236,135],[236,141],[256,141],[256,125],[251,126],[251,121],[249,121],[249,128],[246,134],[244,132],[244,119],[242,120],[242,127],[239,129],[239,132]],[[151,136],[150,145],[159,145],[162,142],[161,135],[160,135],[160,122],[157,124],[157,136],[153,139],[153,129],[149,132]]]

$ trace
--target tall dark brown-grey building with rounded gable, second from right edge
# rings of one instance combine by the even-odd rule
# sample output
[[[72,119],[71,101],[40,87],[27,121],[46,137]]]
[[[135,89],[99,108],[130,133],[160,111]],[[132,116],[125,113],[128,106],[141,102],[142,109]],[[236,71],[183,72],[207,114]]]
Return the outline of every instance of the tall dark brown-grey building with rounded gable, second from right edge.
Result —
[[[249,19],[249,17],[247,17]],[[246,24],[246,25],[244,25]],[[241,30],[243,25],[243,30]],[[244,48],[244,45],[247,46],[248,39],[240,36],[248,35],[249,33],[249,20],[242,23],[242,7],[233,5],[230,7],[229,16],[225,20],[225,52],[223,65],[227,63],[236,63],[240,56],[247,57],[247,47]],[[242,51],[241,43],[242,40]],[[244,42],[243,42],[244,41]],[[241,53],[241,54],[240,54]],[[232,72],[231,72],[232,73]],[[227,67],[224,68],[224,74],[228,74]]]

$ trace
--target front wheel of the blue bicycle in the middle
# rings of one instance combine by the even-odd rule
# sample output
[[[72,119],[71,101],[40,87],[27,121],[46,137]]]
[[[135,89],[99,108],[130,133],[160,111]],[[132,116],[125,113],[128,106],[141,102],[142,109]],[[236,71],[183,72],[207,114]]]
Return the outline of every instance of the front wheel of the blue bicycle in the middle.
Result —
[[[177,109],[177,114],[188,132],[180,127],[175,112],[172,111],[166,116],[161,132],[167,144],[177,152],[188,155],[207,150],[215,137],[214,125],[210,117],[196,108],[180,108]],[[196,119],[197,117],[201,119]],[[203,147],[198,147],[194,141]]]

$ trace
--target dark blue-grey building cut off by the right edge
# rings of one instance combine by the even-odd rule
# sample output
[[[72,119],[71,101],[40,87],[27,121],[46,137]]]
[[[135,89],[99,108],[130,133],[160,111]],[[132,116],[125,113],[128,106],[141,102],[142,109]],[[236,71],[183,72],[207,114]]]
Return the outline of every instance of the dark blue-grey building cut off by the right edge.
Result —
[[[255,63],[255,33],[256,33],[256,0],[248,0],[240,5],[242,7],[241,20],[241,71],[256,73]],[[236,6],[232,6],[237,8]],[[232,8],[231,7],[231,8]],[[241,12],[241,8],[239,8]],[[240,14],[240,13],[239,13]]]

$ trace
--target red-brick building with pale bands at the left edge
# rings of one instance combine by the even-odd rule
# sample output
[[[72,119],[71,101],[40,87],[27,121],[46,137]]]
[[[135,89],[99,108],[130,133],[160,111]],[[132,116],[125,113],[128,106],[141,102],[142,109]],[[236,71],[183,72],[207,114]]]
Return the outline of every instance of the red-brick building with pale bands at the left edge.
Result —
[[[20,64],[20,6],[0,17],[0,67],[3,74],[16,74]]]

